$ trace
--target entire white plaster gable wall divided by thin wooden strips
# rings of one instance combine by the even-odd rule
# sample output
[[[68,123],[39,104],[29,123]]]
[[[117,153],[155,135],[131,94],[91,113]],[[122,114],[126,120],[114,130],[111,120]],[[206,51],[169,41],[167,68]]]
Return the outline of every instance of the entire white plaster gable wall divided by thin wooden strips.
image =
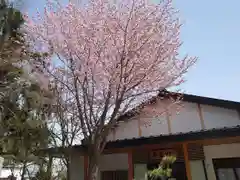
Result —
[[[152,122],[150,125],[141,125],[141,136],[158,136],[169,133],[199,131],[203,129],[200,119],[200,113],[198,105],[196,103],[184,102],[184,107],[178,114],[172,113],[170,116],[170,130],[168,129],[168,121],[166,115],[162,115],[158,118],[148,117],[148,122]],[[156,109],[158,106],[156,106]],[[202,105],[201,104],[202,119],[206,129],[232,127],[240,125],[239,114],[236,110]],[[141,122],[144,118],[139,116]],[[115,139],[131,139],[139,137],[139,119],[130,119],[126,122],[122,122],[116,128],[115,136],[111,133],[108,140]]]

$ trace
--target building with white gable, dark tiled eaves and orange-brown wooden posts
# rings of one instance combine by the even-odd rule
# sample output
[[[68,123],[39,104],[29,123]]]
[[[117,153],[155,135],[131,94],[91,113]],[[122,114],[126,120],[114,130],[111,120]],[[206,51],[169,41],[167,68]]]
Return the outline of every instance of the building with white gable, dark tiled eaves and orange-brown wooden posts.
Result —
[[[177,157],[177,180],[240,179],[240,103],[183,95],[184,108],[151,126],[125,116],[112,131],[100,160],[101,180],[146,180],[147,171],[164,154]],[[72,180],[84,180],[87,154],[81,145],[72,153]]]

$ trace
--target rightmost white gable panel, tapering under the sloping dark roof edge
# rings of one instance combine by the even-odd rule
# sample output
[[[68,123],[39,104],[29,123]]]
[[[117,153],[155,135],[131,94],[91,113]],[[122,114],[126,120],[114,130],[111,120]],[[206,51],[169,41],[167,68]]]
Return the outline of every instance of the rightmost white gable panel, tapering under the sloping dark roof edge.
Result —
[[[240,125],[240,118],[236,110],[208,105],[201,107],[206,129]]]

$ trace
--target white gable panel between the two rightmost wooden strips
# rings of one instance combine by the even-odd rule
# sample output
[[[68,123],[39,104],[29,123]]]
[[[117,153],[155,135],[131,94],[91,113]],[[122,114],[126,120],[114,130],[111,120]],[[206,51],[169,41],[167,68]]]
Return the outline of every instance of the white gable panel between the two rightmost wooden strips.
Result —
[[[181,111],[171,116],[172,133],[198,131],[201,121],[196,103],[184,103]]]

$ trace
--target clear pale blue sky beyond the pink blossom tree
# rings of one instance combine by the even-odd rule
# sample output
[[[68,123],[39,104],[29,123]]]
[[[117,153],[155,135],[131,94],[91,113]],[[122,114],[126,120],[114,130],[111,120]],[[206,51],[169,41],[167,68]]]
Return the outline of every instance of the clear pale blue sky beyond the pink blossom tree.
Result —
[[[42,10],[45,2],[28,1],[25,9],[30,14]],[[183,92],[240,101],[240,1],[173,2],[183,22],[180,54],[198,57],[181,86]]]

